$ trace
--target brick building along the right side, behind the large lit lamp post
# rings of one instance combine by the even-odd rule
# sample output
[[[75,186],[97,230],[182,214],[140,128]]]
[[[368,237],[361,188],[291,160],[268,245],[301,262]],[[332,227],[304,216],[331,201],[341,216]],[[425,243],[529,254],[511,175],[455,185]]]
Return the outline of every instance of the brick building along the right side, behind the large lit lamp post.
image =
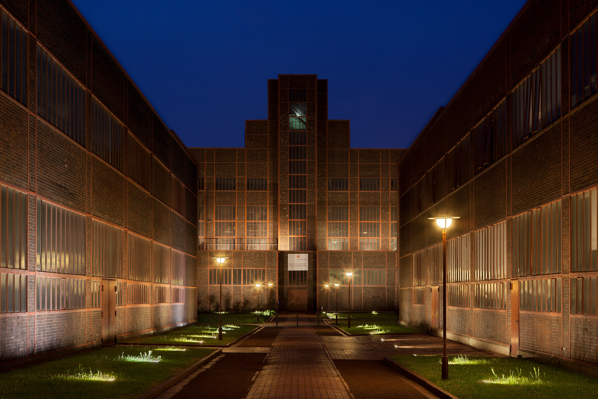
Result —
[[[598,363],[596,1],[528,1],[399,161],[399,310],[504,354]]]

